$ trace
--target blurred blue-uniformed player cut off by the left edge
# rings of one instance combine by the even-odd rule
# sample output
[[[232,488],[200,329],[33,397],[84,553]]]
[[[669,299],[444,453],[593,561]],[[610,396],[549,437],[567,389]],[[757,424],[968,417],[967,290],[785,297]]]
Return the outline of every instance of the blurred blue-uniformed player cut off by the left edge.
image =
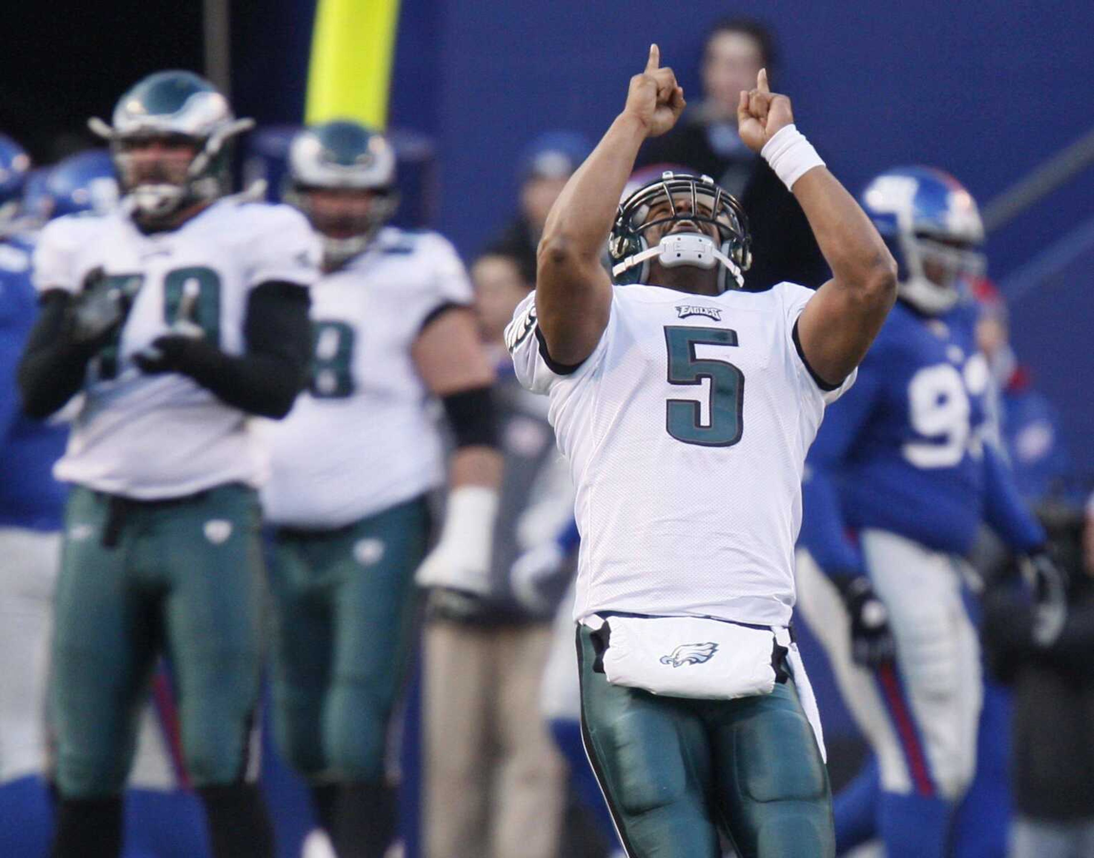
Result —
[[[44,775],[51,600],[65,491],[50,473],[67,432],[25,417],[15,368],[37,315],[21,195],[26,152],[0,135],[0,843],[40,855],[49,813]]]

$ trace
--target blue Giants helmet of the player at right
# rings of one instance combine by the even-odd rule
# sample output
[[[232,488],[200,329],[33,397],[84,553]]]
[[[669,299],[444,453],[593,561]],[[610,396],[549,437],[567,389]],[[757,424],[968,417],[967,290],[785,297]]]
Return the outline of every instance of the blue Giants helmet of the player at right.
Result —
[[[948,173],[887,170],[862,193],[862,208],[897,260],[900,298],[921,313],[945,313],[966,281],[982,275],[984,222],[976,200]]]

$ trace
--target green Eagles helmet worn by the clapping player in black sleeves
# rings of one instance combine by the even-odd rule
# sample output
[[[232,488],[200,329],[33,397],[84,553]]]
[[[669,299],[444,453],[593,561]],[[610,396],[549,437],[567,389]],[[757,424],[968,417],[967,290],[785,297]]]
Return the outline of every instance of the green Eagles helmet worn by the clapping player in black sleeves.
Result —
[[[88,121],[108,140],[127,206],[146,221],[162,221],[195,202],[228,193],[228,143],[254,127],[236,119],[228,100],[203,78],[189,71],[158,71],[123,95],[114,108],[113,125]],[[131,151],[148,140],[188,141],[195,154],[181,175],[160,171],[141,175]]]

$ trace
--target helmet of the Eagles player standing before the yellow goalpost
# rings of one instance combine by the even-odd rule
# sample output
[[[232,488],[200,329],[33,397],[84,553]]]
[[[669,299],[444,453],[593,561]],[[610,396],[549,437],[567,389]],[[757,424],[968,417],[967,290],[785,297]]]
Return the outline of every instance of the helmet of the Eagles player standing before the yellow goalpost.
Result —
[[[371,192],[359,216],[318,211],[310,190]],[[398,206],[395,150],[387,139],[347,119],[300,131],[289,147],[289,188],[284,200],[300,209],[323,236],[324,264],[340,265],[364,251]]]

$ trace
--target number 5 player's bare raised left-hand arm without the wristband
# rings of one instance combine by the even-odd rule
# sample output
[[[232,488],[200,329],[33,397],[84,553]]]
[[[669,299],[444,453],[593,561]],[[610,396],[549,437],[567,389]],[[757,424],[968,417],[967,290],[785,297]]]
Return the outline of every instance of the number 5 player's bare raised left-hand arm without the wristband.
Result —
[[[684,109],[684,90],[672,69],[660,68],[650,46],[645,70],[630,79],[627,104],[596,149],[567,182],[539,242],[536,315],[550,357],[578,364],[587,358],[608,323],[612,280],[601,255],[619,197],[647,137],[672,128]]]

